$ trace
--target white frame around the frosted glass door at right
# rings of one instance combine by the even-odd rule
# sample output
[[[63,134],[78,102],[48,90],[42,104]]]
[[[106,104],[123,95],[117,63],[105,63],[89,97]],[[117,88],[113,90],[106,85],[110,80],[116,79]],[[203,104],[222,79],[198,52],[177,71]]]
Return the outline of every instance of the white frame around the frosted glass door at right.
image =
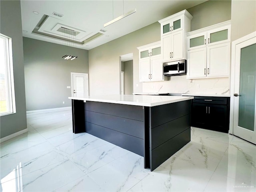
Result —
[[[234,133],[234,91],[235,91],[235,64],[236,64],[236,46],[242,42],[250,40],[256,37],[256,31],[252,32],[242,38],[234,40],[232,42],[232,53],[231,53],[231,74],[230,74],[230,124],[229,124],[229,134]]]

